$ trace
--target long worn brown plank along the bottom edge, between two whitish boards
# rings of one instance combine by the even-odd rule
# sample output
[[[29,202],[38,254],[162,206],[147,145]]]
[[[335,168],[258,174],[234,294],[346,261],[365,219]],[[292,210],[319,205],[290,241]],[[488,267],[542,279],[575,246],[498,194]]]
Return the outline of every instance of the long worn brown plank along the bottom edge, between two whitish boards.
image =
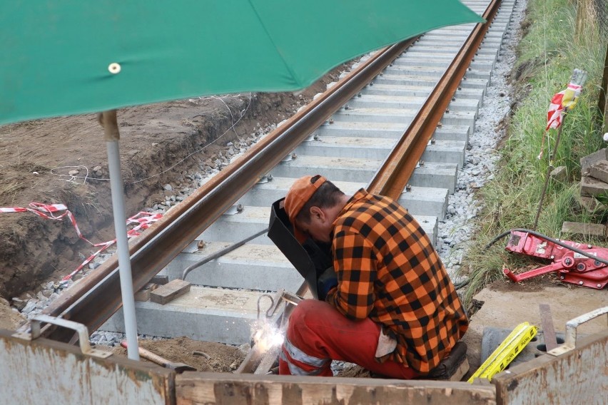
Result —
[[[496,404],[494,386],[467,382],[184,373],[177,404]]]

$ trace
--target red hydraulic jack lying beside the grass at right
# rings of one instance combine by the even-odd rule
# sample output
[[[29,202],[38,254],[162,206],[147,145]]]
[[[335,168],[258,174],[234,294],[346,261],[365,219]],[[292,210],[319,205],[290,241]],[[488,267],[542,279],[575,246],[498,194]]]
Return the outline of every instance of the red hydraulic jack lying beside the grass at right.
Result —
[[[595,289],[608,283],[608,249],[582,245],[569,240],[554,240],[529,230],[511,230],[506,250],[522,255],[553,260],[551,265],[515,275],[509,269],[502,272],[514,282],[557,272],[559,280]],[[599,259],[599,260],[598,260]]]

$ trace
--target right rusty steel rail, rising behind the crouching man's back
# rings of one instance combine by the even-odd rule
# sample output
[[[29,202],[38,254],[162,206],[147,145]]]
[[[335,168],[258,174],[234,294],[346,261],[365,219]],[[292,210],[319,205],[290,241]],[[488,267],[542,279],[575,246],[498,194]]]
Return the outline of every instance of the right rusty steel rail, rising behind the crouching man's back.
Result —
[[[482,43],[499,5],[500,0],[492,0],[487,6],[483,15],[486,22],[477,24],[471,31],[467,41],[462,45],[437,86],[433,88],[425,105],[416,114],[395,148],[380,166],[368,186],[370,193],[386,195],[395,200],[399,198],[414,173],[417,163],[422,158],[422,153],[432,138],[435,128],[441,122],[443,114],[446,113],[447,105],[452,100],[460,81],[465,78],[467,68],[475,58],[475,52]]]

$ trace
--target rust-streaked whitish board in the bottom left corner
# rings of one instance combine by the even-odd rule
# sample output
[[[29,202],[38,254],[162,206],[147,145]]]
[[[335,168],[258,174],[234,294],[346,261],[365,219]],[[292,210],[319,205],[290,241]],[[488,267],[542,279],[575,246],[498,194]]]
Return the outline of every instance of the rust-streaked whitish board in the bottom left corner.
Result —
[[[1,404],[175,404],[175,372],[0,329]]]

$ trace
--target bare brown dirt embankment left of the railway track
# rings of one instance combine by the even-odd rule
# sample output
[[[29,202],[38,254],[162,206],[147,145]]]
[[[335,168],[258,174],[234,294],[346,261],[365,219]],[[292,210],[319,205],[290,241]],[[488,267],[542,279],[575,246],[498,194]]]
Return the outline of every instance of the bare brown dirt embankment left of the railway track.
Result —
[[[344,69],[336,68],[300,94],[243,93],[119,110],[126,215],[164,201],[167,183],[190,185],[186,175],[215,168],[216,153],[227,150],[227,143],[292,116]],[[94,114],[0,127],[0,207],[64,204],[84,237],[93,243],[112,240],[107,161]],[[67,218],[0,215],[0,297],[9,301],[68,275],[98,249],[79,239]]]

